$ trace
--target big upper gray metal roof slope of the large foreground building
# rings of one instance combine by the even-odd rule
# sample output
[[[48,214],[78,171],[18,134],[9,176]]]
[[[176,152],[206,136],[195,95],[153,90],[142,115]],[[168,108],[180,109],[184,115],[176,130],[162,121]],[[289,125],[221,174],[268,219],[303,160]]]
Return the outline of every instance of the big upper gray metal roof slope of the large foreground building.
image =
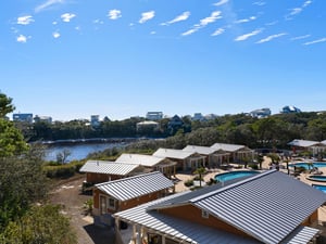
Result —
[[[326,194],[271,170],[190,202],[264,243],[279,243],[326,202]]]

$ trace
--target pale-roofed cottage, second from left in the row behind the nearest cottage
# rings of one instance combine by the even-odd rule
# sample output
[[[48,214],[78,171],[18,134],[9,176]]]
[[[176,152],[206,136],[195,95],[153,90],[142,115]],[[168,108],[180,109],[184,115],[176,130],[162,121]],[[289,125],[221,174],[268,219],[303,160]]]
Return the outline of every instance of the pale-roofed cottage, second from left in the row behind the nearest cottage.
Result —
[[[140,165],[146,171],[160,171],[167,178],[175,176],[176,171],[176,162],[152,155],[123,153],[115,162]]]

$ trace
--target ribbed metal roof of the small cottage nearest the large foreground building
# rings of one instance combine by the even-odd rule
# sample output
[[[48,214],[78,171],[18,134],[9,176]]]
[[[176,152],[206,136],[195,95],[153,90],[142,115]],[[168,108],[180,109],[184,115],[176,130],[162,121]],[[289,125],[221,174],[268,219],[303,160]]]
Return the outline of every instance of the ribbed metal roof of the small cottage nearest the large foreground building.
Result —
[[[174,184],[163,174],[155,171],[113,180],[95,187],[120,201],[136,198],[172,188]]]

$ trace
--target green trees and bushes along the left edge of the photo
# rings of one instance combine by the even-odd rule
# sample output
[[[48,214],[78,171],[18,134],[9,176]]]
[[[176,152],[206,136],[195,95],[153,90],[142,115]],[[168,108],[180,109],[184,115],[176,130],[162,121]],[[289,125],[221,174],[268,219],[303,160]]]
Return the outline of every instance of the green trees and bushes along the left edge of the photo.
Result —
[[[0,243],[76,243],[60,207],[46,204],[42,147],[28,146],[5,117],[14,110],[11,102],[0,93]]]

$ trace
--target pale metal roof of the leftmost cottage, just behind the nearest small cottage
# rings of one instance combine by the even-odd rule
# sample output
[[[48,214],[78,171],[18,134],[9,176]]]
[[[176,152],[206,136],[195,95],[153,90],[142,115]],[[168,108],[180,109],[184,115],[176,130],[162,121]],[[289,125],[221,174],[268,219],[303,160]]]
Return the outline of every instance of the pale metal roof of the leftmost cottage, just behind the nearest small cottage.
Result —
[[[79,171],[126,176],[137,167],[139,167],[139,165],[118,164],[110,160],[87,160]]]

